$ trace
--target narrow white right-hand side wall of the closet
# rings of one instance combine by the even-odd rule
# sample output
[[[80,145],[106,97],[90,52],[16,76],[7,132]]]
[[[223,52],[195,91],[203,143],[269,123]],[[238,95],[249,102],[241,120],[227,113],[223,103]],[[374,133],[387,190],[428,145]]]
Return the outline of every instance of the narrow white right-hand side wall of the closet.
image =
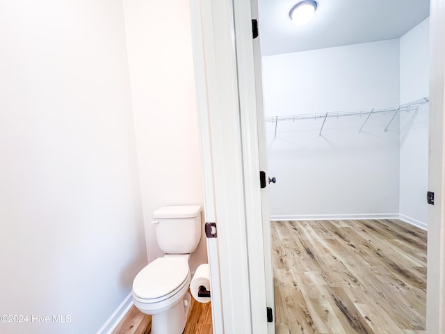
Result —
[[[401,103],[428,97],[430,47],[426,19],[401,38]],[[428,221],[428,104],[401,114],[400,213],[426,227]]]

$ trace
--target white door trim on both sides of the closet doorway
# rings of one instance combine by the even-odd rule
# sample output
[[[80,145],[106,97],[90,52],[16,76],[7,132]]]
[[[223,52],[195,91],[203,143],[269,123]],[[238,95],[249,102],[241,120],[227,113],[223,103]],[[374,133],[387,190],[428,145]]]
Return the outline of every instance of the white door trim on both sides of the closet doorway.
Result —
[[[435,334],[445,331],[445,0],[430,3],[429,189],[435,205],[428,211],[426,326]],[[191,0],[191,12],[204,210],[207,221],[218,224],[218,242],[208,241],[214,333],[267,333],[264,265],[258,263],[264,263],[264,248],[252,220],[261,216],[261,195],[254,180],[258,134],[250,123],[257,117],[250,0]]]

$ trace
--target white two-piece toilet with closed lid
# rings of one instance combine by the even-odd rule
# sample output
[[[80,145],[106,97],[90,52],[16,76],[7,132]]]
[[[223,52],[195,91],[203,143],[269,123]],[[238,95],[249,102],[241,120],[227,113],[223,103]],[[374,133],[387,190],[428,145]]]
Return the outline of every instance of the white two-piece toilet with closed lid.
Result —
[[[188,259],[200,243],[201,207],[160,207],[153,218],[156,241],[165,255],[136,275],[133,303],[140,312],[152,315],[152,334],[181,334],[191,305]]]

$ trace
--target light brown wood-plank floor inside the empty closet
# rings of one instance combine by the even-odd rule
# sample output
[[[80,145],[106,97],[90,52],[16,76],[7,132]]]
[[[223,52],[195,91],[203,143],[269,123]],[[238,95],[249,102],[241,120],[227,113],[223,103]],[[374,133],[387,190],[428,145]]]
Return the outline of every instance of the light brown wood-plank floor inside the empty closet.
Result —
[[[425,331],[426,232],[398,220],[273,221],[277,334]]]

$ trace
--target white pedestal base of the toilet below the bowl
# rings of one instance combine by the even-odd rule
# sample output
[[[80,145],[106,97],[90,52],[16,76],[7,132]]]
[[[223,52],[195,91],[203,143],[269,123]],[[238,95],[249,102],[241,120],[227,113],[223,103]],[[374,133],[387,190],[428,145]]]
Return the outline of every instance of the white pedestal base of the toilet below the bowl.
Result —
[[[186,328],[190,305],[191,295],[186,292],[184,298],[175,306],[152,315],[152,334],[181,334]]]

